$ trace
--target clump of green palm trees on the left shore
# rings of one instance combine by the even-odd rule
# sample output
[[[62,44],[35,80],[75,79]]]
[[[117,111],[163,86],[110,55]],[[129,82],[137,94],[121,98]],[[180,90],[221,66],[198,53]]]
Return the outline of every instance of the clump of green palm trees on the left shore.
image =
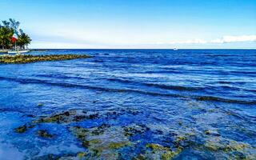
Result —
[[[9,21],[0,22],[0,48],[2,50],[9,50],[14,47],[15,42],[11,39],[14,34],[18,35],[16,44],[24,49],[31,42],[31,38],[28,34],[25,34],[22,29],[19,29],[20,22],[10,18]]]

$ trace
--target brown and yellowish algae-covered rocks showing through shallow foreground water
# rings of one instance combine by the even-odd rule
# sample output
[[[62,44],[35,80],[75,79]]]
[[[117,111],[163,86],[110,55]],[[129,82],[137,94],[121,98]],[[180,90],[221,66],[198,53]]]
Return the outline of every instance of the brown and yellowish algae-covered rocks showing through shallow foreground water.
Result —
[[[206,150],[207,152],[223,154],[234,159],[253,159],[254,146],[237,142],[222,137],[214,130],[199,131],[188,126],[186,131],[169,130],[164,131],[161,127],[155,128],[150,124],[131,123],[126,126],[110,125],[110,120],[115,120],[122,115],[139,115],[142,112],[134,109],[121,110],[66,110],[56,114],[44,115],[26,122],[14,129],[16,134],[34,133],[38,138],[50,141],[61,135],[54,134],[54,130],[42,130],[38,126],[42,124],[58,124],[66,127],[70,135],[77,139],[78,146],[84,151],[73,154],[47,154],[38,156],[37,159],[122,159],[127,153],[137,153],[134,160],[162,159],[169,160],[177,158],[186,149],[192,147],[194,150]],[[83,122],[104,119],[98,125],[85,126]],[[162,137],[155,141],[154,136]],[[150,139],[148,136],[150,136]],[[201,139],[200,141],[198,141]],[[129,158],[128,158],[129,159]]]

